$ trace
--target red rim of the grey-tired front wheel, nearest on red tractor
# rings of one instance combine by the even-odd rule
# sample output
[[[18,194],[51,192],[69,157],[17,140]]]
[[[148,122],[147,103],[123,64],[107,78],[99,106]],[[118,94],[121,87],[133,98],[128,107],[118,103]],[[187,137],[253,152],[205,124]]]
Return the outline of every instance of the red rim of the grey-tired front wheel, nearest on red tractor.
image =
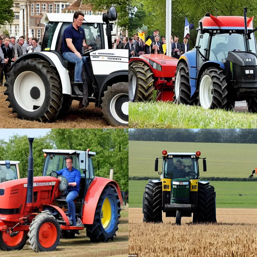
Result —
[[[57,238],[56,226],[51,222],[46,222],[42,224],[38,234],[38,239],[40,244],[44,248],[49,248],[56,242],[56,238]]]

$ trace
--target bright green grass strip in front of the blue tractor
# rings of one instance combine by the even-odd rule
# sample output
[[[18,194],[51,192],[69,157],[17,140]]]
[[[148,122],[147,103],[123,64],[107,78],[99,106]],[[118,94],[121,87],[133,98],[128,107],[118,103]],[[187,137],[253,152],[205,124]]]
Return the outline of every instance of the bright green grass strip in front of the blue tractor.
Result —
[[[169,102],[129,103],[130,128],[256,128],[257,116]]]

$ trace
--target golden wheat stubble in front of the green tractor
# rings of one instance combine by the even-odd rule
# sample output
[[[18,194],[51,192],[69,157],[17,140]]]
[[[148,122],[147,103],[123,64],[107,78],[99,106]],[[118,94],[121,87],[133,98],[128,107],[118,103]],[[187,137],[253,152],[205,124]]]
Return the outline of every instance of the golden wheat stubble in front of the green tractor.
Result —
[[[129,252],[154,257],[257,256],[256,209],[217,209],[217,224],[192,225],[192,218],[163,215],[162,224],[142,222],[142,208],[129,208]]]

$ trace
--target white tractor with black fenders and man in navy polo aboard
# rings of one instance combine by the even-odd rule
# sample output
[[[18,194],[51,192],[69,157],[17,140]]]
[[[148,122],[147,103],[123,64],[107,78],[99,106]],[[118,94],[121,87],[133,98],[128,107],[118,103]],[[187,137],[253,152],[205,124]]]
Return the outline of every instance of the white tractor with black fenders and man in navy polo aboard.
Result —
[[[82,68],[83,95],[72,91],[74,65],[61,54],[63,31],[73,22],[72,13],[45,13],[41,52],[19,57],[7,75],[4,92],[13,113],[25,120],[54,122],[68,113],[72,100],[80,107],[89,102],[102,107],[106,121],[112,126],[128,125],[128,50],[112,49],[111,31],[117,18],[115,7],[101,15],[85,15],[81,28],[86,43],[84,51],[88,70]]]

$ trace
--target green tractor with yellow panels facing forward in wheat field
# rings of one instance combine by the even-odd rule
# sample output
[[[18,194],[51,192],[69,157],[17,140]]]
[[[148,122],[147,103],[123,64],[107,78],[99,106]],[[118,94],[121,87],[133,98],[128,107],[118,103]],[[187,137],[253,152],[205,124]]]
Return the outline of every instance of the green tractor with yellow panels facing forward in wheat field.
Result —
[[[149,179],[143,195],[144,222],[162,222],[162,211],[166,217],[192,217],[193,223],[216,223],[216,192],[209,181],[200,181],[198,160],[206,158],[201,153],[168,153],[162,151],[163,166],[160,180]],[[155,171],[158,171],[158,159]]]

